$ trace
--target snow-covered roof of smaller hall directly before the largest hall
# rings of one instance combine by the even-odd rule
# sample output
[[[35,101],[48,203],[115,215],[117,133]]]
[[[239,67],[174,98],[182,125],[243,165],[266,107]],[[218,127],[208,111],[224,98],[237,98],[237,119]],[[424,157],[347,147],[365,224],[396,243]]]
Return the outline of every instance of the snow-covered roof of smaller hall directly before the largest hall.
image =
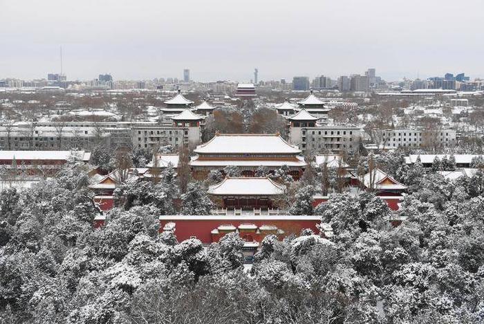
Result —
[[[226,177],[208,188],[210,195],[272,196],[282,195],[286,188],[268,177]]]

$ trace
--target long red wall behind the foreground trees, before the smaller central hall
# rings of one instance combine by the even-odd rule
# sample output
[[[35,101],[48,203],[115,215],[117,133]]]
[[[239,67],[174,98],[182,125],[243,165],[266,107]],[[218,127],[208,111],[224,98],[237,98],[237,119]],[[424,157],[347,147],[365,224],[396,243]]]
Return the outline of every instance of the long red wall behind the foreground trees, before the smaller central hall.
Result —
[[[307,219],[304,219],[306,217]],[[218,239],[223,236],[221,235],[213,235],[214,240],[212,240],[212,231],[218,226],[221,225],[233,225],[238,227],[241,224],[254,224],[257,227],[262,225],[271,225],[277,226],[277,228],[284,231],[284,234],[281,236],[286,236],[289,234],[297,234],[301,233],[301,230],[304,228],[311,228],[315,233],[319,233],[319,230],[316,228],[317,224],[321,223],[318,217],[310,217],[310,216],[301,216],[300,219],[296,220],[286,220],[286,219],[257,219],[254,217],[253,219],[160,219],[160,233],[163,231],[163,227],[169,223],[175,223],[175,235],[178,242],[183,240],[187,240],[190,237],[194,236],[197,237],[198,240],[201,240],[203,244],[210,244],[212,241],[218,241]],[[241,236],[245,233],[241,233]],[[247,233],[251,235],[254,240],[261,240],[261,236],[265,235],[258,235],[256,233]],[[260,241],[259,241],[260,242]]]

